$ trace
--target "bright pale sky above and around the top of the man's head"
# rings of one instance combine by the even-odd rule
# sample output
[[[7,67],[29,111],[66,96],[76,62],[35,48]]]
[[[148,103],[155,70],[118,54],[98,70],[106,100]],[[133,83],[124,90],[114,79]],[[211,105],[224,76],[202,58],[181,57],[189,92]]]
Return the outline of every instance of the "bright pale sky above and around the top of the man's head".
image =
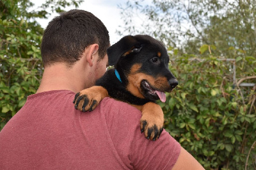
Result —
[[[32,2],[37,6],[40,5],[42,1],[33,0]],[[121,10],[118,8],[118,4],[125,6],[124,4],[126,2],[127,0],[84,0],[84,3],[80,4],[78,9],[86,10],[98,17],[107,27],[109,31],[110,43],[113,44],[122,38],[117,35],[116,29],[118,29],[118,26],[124,24],[123,20],[121,19]],[[65,10],[68,11],[71,9],[74,9],[74,6],[71,8],[66,8]],[[45,28],[47,24],[56,16],[58,16],[58,14],[53,13],[49,19],[40,19],[38,22],[42,27]]]

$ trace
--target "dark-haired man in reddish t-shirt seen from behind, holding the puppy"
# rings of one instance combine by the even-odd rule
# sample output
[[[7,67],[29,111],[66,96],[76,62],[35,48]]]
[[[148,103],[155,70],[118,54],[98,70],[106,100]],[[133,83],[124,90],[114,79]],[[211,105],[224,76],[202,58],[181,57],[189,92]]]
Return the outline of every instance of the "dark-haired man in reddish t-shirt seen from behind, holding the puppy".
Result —
[[[104,98],[95,111],[74,109],[75,94],[106,72],[108,47],[92,13],[70,10],[49,23],[42,82],[0,132],[0,169],[203,169],[166,131],[145,139],[131,105]]]

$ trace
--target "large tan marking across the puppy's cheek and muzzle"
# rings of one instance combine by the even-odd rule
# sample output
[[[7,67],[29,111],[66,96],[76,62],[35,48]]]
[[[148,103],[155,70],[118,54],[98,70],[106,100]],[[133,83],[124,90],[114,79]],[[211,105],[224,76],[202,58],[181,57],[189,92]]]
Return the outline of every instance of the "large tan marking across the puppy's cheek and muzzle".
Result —
[[[151,75],[138,72],[140,68],[140,64],[132,66],[131,72],[128,75],[129,84],[127,85],[127,90],[130,91],[132,95],[139,98],[145,98],[141,93],[140,84],[142,80],[146,80],[152,88],[159,89],[160,91],[168,91],[168,89],[170,89],[170,84],[166,77],[157,77],[157,79],[155,79]]]

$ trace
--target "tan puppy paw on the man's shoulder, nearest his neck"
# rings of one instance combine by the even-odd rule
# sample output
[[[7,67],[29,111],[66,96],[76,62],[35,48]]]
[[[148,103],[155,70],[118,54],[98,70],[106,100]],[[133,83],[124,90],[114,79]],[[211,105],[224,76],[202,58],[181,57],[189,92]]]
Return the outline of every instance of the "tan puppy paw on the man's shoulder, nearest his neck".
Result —
[[[93,111],[104,97],[108,97],[108,91],[105,88],[92,86],[77,93],[73,103],[80,111]]]

